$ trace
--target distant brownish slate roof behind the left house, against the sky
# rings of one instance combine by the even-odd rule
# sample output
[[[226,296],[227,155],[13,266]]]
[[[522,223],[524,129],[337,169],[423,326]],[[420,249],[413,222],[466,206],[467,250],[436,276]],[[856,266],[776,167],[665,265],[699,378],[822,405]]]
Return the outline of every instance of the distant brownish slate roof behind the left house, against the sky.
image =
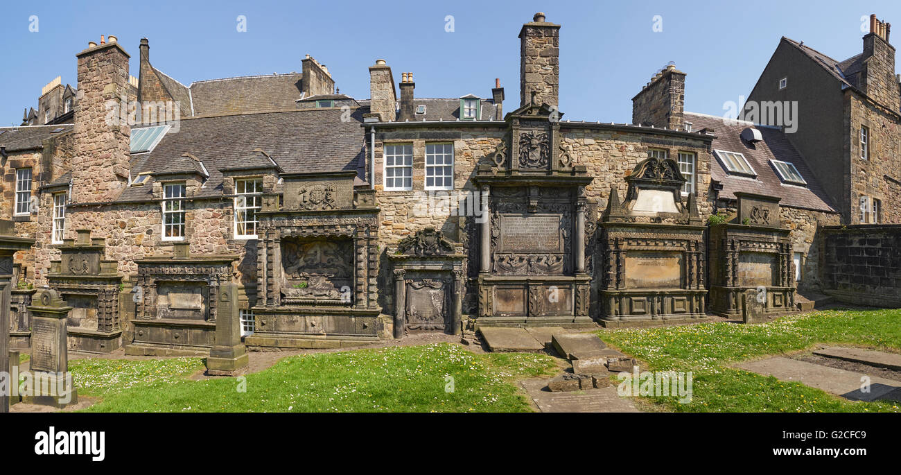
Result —
[[[302,74],[273,74],[197,81],[189,87],[194,115],[296,110]]]

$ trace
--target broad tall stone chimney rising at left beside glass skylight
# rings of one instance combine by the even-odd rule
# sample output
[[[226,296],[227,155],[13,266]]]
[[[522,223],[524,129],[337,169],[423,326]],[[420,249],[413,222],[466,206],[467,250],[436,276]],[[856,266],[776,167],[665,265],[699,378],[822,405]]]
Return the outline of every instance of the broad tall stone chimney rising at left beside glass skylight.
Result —
[[[76,55],[78,106],[71,196],[75,203],[110,201],[128,181],[132,127],[122,120],[120,111],[128,100],[129,55],[114,37],[110,40],[99,45],[91,41],[93,45]]]

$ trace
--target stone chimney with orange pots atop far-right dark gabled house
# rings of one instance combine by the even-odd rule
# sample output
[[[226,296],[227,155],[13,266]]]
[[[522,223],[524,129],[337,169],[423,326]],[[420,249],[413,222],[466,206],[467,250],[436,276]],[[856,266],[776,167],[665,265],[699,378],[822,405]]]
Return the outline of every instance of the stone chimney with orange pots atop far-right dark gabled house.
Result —
[[[893,111],[899,109],[895,75],[895,47],[888,42],[891,23],[880,22],[869,15],[869,33],[863,37],[863,57],[860,68],[860,90]]]

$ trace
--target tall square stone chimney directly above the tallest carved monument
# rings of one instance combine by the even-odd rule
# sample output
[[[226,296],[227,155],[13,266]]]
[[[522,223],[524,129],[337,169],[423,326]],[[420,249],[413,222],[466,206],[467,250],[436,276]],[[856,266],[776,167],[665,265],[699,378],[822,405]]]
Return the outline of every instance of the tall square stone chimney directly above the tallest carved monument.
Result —
[[[560,25],[544,21],[541,12],[524,23],[519,32],[519,101],[529,104],[532,91],[535,104],[560,102]]]

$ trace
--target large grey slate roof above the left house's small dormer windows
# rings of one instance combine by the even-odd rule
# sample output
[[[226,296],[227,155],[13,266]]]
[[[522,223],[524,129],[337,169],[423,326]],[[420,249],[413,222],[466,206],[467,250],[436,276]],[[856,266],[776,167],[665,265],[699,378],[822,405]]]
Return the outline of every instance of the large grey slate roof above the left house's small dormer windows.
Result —
[[[195,196],[222,196],[223,169],[273,167],[265,151],[286,173],[359,169],[364,133],[361,109],[354,109],[349,122],[341,122],[341,110],[237,114],[184,119],[178,132],[169,131],[149,153],[131,157],[132,178],[142,172],[200,173],[205,166],[209,179]],[[148,200],[152,180],[128,187],[118,201]]]

